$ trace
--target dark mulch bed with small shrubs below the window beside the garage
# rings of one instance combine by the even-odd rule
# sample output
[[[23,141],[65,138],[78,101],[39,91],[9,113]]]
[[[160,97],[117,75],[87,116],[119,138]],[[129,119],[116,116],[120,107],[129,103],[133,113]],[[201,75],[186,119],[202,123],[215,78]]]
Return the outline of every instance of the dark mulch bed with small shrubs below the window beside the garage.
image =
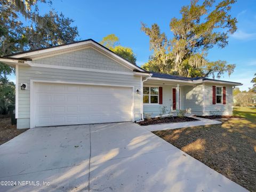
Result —
[[[143,122],[139,122],[139,125],[153,125],[153,124],[161,124],[161,123],[181,123],[181,122],[188,122],[188,121],[198,121],[195,118],[191,117],[155,117],[150,119],[145,119]]]

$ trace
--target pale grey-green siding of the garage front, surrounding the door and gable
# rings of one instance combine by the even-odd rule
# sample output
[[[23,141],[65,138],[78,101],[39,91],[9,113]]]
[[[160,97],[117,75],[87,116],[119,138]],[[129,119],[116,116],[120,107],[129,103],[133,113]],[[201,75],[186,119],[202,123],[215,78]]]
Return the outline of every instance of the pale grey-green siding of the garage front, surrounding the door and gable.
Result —
[[[81,68],[92,68],[92,69],[103,69],[103,70],[115,70],[131,72],[132,70],[123,67],[121,64],[114,60],[109,59],[105,55],[99,56],[98,52],[93,49],[86,49],[81,51],[75,51],[70,53],[65,53],[61,55],[55,55],[53,57],[44,58],[40,60],[33,61],[34,63],[40,63],[45,65],[69,65],[68,67],[81,67]],[[90,57],[88,60],[83,59],[82,51],[87,52]],[[67,54],[81,55],[78,59],[73,56],[66,57]],[[99,53],[100,54],[100,53]],[[86,54],[85,54],[86,55]],[[69,55],[70,56],[70,55]],[[99,58],[98,58],[99,57]],[[55,60],[58,58],[57,60]],[[103,58],[103,59],[102,59]],[[93,61],[93,60],[97,61]],[[66,61],[68,60],[68,61]],[[82,60],[81,62],[79,60]],[[90,60],[90,61],[89,61]],[[52,61],[52,62],[51,62]],[[111,61],[111,62],[110,62]],[[69,64],[68,64],[69,63]],[[78,63],[80,63],[78,65]],[[93,65],[91,64],[93,63]],[[98,64],[97,64],[98,63]],[[82,65],[82,66],[81,66]],[[107,66],[110,65],[110,69]],[[118,68],[117,65],[120,67]],[[102,67],[103,66],[103,67]],[[39,81],[58,81],[62,82],[77,82],[77,83],[87,83],[87,84],[112,84],[112,85],[124,85],[124,86],[134,86],[134,92],[141,88],[141,77],[134,76],[131,74],[117,74],[117,73],[103,73],[103,72],[93,72],[86,70],[71,70],[71,69],[60,69],[60,68],[46,68],[46,67],[25,67],[19,66],[18,84],[27,83],[26,90],[19,89],[18,97],[18,119],[17,128],[29,128],[30,127],[30,79]],[[141,97],[140,94],[134,93],[134,118],[135,120],[141,119]]]

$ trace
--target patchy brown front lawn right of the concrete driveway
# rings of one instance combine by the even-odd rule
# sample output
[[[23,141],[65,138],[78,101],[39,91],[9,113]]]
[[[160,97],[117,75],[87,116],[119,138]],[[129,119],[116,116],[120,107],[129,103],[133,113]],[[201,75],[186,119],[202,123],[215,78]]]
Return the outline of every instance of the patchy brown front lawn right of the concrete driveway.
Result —
[[[256,191],[256,124],[222,124],[154,131],[156,135],[250,191]]]

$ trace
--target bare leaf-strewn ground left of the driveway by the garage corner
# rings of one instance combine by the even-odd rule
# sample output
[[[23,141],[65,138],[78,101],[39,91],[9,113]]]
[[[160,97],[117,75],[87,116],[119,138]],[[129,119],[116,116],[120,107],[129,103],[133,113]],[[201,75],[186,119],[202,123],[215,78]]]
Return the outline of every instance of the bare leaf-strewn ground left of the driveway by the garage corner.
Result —
[[[11,124],[10,116],[0,115],[0,145],[16,137],[28,129],[18,129]]]

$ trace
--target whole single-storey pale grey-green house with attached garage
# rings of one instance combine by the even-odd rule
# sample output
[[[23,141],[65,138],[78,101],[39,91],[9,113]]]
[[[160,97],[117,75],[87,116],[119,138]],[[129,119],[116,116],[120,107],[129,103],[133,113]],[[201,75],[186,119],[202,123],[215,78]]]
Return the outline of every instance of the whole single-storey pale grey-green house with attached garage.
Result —
[[[137,121],[182,109],[232,114],[241,83],[149,73],[85,41],[1,57],[16,68],[17,128]]]

